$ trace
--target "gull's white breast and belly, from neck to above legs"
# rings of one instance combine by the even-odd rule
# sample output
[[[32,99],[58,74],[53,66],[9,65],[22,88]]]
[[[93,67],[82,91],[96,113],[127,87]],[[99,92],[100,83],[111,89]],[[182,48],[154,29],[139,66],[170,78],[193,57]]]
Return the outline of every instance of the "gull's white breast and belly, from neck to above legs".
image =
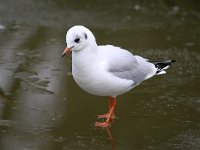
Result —
[[[84,51],[72,53],[72,75],[83,90],[99,96],[117,96],[133,88],[133,81],[109,73],[106,62],[95,57],[99,55]]]

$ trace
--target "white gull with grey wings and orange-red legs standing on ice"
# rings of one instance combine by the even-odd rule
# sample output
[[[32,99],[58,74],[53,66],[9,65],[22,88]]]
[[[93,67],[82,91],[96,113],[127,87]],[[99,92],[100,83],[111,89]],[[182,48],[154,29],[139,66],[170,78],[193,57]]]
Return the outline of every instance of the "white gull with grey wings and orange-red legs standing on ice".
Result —
[[[72,52],[72,75],[84,91],[109,97],[108,113],[97,115],[103,122],[96,127],[106,128],[115,119],[116,97],[146,79],[165,74],[174,60],[150,61],[113,45],[97,45],[93,33],[82,25],[71,27],[66,34],[67,47],[62,53]]]

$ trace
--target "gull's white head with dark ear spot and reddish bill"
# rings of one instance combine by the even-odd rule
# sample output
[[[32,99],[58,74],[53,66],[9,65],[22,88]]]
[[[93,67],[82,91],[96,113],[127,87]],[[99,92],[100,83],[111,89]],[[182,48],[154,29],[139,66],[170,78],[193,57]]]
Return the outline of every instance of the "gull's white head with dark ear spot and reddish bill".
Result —
[[[85,48],[96,46],[96,40],[92,32],[81,25],[73,26],[67,31],[66,43],[67,47],[62,56],[69,51],[78,52]]]

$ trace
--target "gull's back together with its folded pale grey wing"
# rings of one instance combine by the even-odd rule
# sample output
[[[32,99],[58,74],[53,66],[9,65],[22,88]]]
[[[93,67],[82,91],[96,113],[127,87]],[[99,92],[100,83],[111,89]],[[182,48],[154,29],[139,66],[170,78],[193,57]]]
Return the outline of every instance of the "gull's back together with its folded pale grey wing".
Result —
[[[103,58],[107,60],[108,70],[114,76],[122,79],[132,80],[138,85],[155,75],[155,66],[147,59],[133,55],[127,50],[112,45],[99,46]]]

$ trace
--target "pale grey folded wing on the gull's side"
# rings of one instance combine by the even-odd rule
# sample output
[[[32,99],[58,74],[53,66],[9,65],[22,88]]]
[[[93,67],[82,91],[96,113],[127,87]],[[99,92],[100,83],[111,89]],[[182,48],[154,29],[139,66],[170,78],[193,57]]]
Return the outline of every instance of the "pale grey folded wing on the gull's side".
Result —
[[[125,52],[121,55],[115,56],[114,59],[110,59],[109,71],[114,76],[132,80],[134,85],[137,85],[145,79],[155,75],[156,68],[146,59]]]

